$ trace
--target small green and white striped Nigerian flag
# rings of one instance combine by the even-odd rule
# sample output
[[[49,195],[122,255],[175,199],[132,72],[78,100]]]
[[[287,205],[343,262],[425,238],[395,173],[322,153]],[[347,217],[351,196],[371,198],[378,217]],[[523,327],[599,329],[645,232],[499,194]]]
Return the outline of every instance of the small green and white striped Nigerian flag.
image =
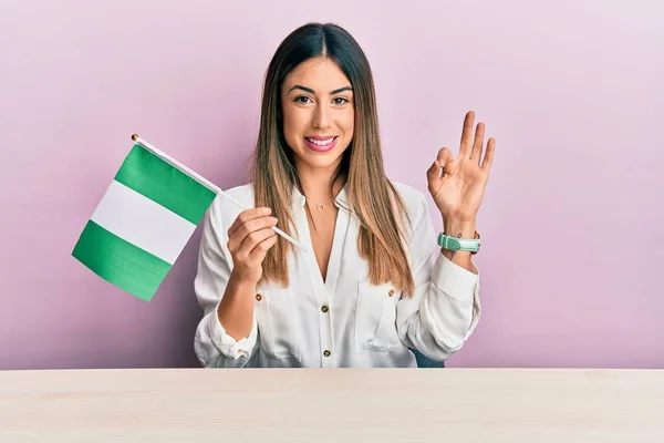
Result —
[[[134,144],[72,253],[143,300],[153,298],[217,196],[207,181],[158,154]]]

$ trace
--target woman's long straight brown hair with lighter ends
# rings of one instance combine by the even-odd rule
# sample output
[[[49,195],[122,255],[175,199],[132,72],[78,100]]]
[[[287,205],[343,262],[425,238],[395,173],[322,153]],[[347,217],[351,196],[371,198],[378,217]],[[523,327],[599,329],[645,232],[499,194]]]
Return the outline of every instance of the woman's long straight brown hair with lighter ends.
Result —
[[[414,291],[404,248],[405,205],[385,176],[378,135],[373,75],[355,39],[335,24],[308,23],[290,33],[277,49],[264,79],[260,130],[251,163],[256,207],[267,206],[279,226],[292,234],[292,188],[302,189],[293,153],[283,136],[281,86],[287,75],[305,60],[325,56],[344,72],[353,87],[354,136],[332,177],[345,183],[350,208],[360,222],[357,250],[369,261],[372,284],[392,282],[405,295]],[[395,210],[396,209],[396,210]],[[396,214],[396,215],[395,215]],[[262,281],[289,285],[288,254],[293,246],[282,237],[263,260]]]

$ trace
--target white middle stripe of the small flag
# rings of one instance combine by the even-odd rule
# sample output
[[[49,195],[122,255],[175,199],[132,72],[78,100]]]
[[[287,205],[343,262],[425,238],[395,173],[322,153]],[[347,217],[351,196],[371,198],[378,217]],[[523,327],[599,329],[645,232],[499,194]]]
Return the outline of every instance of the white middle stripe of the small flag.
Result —
[[[170,265],[196,229],[196,225],[115,181],[91,219]]]

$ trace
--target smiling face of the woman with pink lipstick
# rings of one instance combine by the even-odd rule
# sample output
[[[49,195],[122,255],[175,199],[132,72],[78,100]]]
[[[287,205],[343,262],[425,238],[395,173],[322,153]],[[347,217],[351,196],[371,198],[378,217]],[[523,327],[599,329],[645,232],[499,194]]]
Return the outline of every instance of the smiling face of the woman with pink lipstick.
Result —
[[[353,140],[351,82],[332,60],[300,63],[281,86],[283,134],[298,168],[335,168]]]

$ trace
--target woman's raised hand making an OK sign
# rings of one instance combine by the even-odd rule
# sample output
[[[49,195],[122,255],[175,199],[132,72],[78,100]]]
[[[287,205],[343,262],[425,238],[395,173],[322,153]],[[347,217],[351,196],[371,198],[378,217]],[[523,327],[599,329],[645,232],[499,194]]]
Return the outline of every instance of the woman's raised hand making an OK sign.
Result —
[[[473,137],[474,122],[475,113],[470,111],[464,120],[458,158],[444,147],[426,174],[428,190],[445,219],[475,220],[487,187],[496,141],[489,138],[484,151],[485,124],[477,124]]]

